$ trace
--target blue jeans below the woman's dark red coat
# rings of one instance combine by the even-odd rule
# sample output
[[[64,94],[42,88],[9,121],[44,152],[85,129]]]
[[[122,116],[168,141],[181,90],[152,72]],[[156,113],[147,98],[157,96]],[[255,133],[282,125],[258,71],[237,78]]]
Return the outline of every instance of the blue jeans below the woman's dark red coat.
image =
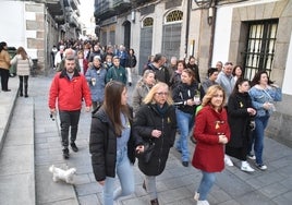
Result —
[[[203,173],[203,178],[200,180],[199,186],[197,192],[199,193],[199,201],[204,201],[207,200],[207,195],[211,190],[211,186],[215,183],[216,180],[216,176],[215,172],[206,172],[206,171],[202,171]]]

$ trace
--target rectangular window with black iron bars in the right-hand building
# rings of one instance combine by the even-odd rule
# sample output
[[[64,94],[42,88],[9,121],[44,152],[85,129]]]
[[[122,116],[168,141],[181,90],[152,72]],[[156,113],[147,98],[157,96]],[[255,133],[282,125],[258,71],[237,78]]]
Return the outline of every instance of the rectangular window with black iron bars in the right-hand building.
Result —
[[[278,20],[247,23],[245,49],[245,77],[252,80],[256,72],[267,71],[270,75],[275,56]]]

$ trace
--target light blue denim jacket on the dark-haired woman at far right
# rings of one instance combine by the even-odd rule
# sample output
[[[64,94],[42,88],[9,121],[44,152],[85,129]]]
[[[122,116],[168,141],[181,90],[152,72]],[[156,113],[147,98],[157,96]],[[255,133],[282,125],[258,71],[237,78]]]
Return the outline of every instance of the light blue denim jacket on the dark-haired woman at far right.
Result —
[[[266,110],[263,106],[265,102],[281,101],[282,100],[282,91],[280,87],[270,87],[266,89],[258,89],[256,86],[253,86],[248,92],[253,107],[257,110],[256,117],[270,116],[275,110]]]

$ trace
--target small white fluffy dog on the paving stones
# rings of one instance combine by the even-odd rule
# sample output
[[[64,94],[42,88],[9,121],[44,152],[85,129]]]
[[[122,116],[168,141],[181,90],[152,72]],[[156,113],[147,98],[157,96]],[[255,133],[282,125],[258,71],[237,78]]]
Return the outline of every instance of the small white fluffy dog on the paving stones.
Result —
[[[52,173],[52,181],[57,182],[61,180],[61,181],[72,184],[73,177],[74,177],[74,173],[76,172],[76,169],[70,168],[70,169],[63,170],[52,165],[50,166],[49,171]]]

